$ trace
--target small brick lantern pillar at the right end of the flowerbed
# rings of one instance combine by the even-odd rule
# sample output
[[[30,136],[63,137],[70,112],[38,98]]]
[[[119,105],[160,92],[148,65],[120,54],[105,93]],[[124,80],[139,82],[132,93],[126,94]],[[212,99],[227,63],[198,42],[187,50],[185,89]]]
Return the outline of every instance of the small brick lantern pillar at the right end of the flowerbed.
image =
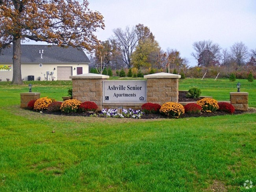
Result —
[[[247,92],[230,92],[230,103],[237,110],[248,111],[248,95]]]

